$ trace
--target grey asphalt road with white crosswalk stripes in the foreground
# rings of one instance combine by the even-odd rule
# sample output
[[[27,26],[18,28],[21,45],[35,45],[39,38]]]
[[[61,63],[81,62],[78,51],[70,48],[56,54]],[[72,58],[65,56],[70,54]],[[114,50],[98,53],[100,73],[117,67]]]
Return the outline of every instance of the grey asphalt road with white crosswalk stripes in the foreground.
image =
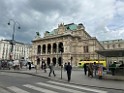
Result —
[[[26,74],[0,72],[0,93],[124,93],[124,91],[63,83]]]

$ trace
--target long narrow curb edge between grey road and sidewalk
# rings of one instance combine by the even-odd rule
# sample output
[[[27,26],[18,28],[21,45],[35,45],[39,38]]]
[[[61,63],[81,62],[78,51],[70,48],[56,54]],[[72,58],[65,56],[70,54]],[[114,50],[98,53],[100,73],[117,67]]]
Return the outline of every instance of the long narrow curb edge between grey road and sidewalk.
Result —
[[[36,77],[41,77],[41,78],[45,78],[45,79],[50,79],[50,80],[54,80],[54,81],[59,81],[59,82],[67,83],[67,81],[65,81],[63,79],[62,80],[61,79],[54,79],[54,78],[51,78],[51,77],[41,76],[41,75],[38,75],[38,74],[32,74],[32,73],[28,73],[28,72],[20,72],[20,71],[1,71],[1,72],[27,74],[27,75],[32,75],[32,76],[36,76]],[[76,85],[80,85],[80,86],[88,86],[88,87],[96,87],[96,88],[114,89],[114,90],[122,90],[122,91],[124,91],[124,89],[119,89],[119,88],[94,86],[94,85],[88,85],[88,84],[79,84],[79,83],[76,83],[76,82],[70,82],[70,84],[76,84]]]

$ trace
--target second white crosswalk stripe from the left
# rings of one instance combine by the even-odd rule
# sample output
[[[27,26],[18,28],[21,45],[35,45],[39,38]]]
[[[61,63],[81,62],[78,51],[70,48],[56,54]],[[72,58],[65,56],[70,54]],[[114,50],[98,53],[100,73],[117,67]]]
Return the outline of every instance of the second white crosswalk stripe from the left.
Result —
[[[48,89],[44,89],[44,88],[41,88],[41,87],[36,87],[36,86],[30,85],[30,84],[26,84],[26,85],[23,85],[23,86],[25,86],[27,88],[30,88],[30,89],[37,90],[39,92],[44,92],[44,93],[58,93],[58,92],[51,91],[51,90],[48,90]]]

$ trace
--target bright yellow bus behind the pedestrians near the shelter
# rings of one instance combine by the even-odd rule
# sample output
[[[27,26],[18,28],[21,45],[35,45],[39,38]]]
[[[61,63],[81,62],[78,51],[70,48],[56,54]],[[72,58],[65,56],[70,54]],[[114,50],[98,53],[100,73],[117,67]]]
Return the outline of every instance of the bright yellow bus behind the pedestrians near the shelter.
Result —
[[[104,67],[106,67],[106,61],[105,60],[88,60],[88,61],[80,61],[78,62],[78,67],[83,67],[84,64],[89,64],[89,63],[94,63],[96,62],[96,64],[102,64]]]

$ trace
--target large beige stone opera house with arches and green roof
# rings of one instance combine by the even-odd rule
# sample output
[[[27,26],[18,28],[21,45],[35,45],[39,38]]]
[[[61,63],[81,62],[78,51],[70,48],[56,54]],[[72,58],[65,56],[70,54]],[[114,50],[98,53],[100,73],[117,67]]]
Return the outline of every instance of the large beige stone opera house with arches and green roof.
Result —
[[[38,36],[32,41],[32,60],[37,58],[45,60],[47,64],[61,64],[71,62],[73,66],[80,60],[97,59],[95,50],[104,47],[95,38],[91,37],[83,24],[64,24],[58,28],[44,33],[44,37]]]

